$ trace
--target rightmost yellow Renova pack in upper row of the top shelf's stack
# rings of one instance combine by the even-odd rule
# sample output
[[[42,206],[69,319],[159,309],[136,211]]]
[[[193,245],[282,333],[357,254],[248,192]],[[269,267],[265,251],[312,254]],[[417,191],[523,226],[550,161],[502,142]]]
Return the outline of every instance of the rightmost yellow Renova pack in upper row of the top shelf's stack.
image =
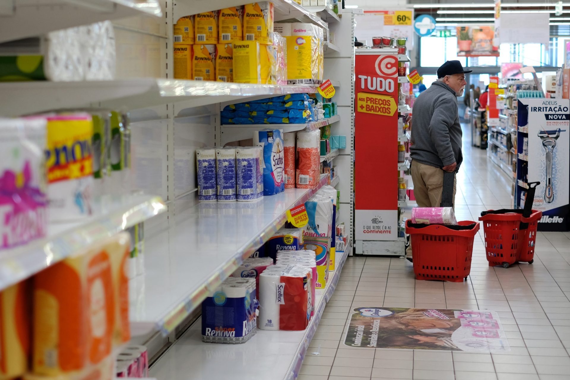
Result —
[[[272,44],[273,3],[261,1],[243,7],[243,39]]]

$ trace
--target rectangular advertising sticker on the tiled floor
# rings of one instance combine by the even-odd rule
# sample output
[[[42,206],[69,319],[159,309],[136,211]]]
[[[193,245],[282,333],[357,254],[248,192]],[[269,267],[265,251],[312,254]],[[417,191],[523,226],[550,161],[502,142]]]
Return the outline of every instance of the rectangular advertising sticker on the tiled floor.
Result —
[[[507,353],[499,314],[490,310],[363,307],[344,334],[351,348]]]

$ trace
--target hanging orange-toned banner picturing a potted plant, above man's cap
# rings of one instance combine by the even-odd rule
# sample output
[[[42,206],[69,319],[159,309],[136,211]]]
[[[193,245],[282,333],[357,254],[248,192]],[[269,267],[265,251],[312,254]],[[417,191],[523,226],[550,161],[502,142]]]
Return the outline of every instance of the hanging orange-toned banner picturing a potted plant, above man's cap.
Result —
[[[457,56],[498,57],[499,48],[493,46],[494,33],[492,26],[458,26]]]

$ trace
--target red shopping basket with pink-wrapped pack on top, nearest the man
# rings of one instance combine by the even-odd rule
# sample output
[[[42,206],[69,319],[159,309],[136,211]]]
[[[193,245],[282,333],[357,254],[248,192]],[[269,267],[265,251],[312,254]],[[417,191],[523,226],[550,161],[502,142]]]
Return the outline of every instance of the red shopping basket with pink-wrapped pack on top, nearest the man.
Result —
[[[469,230],[452,230],[440,224],[417,228],[406,222],[414,252],[414,273],[417,280],[443,280],[461,283],[471,272],[473,239],[479,223],[463,220],[459,226],[474,224]]]

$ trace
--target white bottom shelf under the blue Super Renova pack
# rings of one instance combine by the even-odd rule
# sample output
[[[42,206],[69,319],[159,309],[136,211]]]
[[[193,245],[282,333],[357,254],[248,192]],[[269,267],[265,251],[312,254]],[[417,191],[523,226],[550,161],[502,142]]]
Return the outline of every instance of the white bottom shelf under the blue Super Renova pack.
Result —
[[[256,378],[295,379],[351,249],[349,240],[347,249],[342,254],[337,252],[336,270],[329,273],[324,291],[317,291],[315,315],[305,330],[258,329],[246,344],[210,344],[202,342],[199,319],[154,363],[150,374],[169,380],[188,379],[188,374],[201,379],[222,379],[227,377],[227,371],[221,369],[231,369],[233,379],[249,380],[251,369],[255,368]]]

